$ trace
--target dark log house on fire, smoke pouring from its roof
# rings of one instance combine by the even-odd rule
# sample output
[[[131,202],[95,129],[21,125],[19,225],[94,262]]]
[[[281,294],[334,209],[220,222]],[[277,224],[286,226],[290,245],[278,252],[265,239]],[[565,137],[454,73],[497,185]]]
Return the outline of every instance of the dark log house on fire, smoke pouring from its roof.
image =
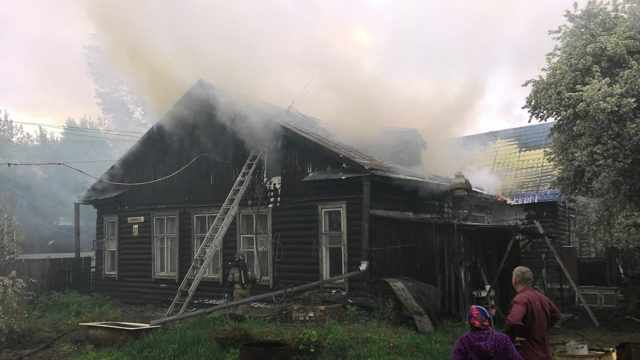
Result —
[[[410,129],[396,136],[413,140],[387,159],[385,152],[373,156],[318,119],[198,81],[81,197],[97,209],[97,291],[173,299],[216,215],[228,211],[225,199],[241,187],[234,184],[248,158],[259,153],[193,299],[220,299],[229,261],[241,252],[258,274],[255,293],[332,278],[365,262],[364,274],[324,286],[373,295],[382,279],[410,278],[433,286],[436,309],[465,315],[472,291],[496,274],[515,236],[493,223],[492,214],[508,205],[474,192],[474,215],[483,223],[457,222],[451,179],[409,168],[421,165],[424,140]],[[517,252],[511,249],[507,267],[517,265]],[[495,280],[506,309],[511,275]]]

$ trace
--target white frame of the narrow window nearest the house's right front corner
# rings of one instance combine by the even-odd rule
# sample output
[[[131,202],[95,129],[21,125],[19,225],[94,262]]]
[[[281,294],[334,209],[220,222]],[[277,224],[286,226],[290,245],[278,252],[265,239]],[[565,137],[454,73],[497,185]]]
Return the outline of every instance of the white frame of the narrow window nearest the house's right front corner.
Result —
[[[342,225],[342,231],[324,231],[324,213],[327,211],[340,211],[340,220]],[[318,234],[320,245],[320,278],[328,279],[330,276],[329,268],[329,249],[339,247],[342,249],[342,272],[345,274],[348,269],[348,242],[347,242],[347,204],[346,202],[331,202],[328,204],[318,205]],[[342,234],[342,244],[329,245],[329,235]],[[348,282],[345,279],[332,282],[331,284],[344,284],[344,288],[347,288]]]

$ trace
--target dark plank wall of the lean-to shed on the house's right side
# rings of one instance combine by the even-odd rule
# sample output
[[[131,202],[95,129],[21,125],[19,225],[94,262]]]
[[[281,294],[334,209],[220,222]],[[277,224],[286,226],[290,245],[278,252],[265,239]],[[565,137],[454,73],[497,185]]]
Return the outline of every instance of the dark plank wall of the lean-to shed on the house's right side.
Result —
[[[512,236],[509,231],[495,228],[474,230],[376,216],[371,222],[372,281],[410,277],[437,286],[440,310],[450,315],[466,315],[467,306],[474,302],[471,291],[484,286],[479,263],[484,263],[487,275],[493,277]],[[516,244],[496,288],[503,311],[513,296],[511,270],[517,265],[517,254]]]

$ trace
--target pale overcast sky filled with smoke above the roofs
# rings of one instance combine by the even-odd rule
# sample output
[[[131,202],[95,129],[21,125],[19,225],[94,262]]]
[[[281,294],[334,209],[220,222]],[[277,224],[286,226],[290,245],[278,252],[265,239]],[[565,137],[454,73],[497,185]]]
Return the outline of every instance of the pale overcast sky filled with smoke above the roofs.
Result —
[[[153,116],[198,78],[285,107],[314,78],[296,109],[345,133],[524,126],[521,85],[572,3],[13,1],[0,12],[0,108],[55,124],[99,115],[83,58],[95,33]]]

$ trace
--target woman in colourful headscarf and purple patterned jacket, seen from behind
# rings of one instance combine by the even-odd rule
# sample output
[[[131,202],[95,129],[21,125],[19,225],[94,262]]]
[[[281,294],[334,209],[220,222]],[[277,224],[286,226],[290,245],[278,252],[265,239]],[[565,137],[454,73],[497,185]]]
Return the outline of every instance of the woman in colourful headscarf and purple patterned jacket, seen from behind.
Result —
[[[484,307],[472,306],[468,321],[471,329],[454,345],[451,360],[523,360],[509,336],[491,328]]]

